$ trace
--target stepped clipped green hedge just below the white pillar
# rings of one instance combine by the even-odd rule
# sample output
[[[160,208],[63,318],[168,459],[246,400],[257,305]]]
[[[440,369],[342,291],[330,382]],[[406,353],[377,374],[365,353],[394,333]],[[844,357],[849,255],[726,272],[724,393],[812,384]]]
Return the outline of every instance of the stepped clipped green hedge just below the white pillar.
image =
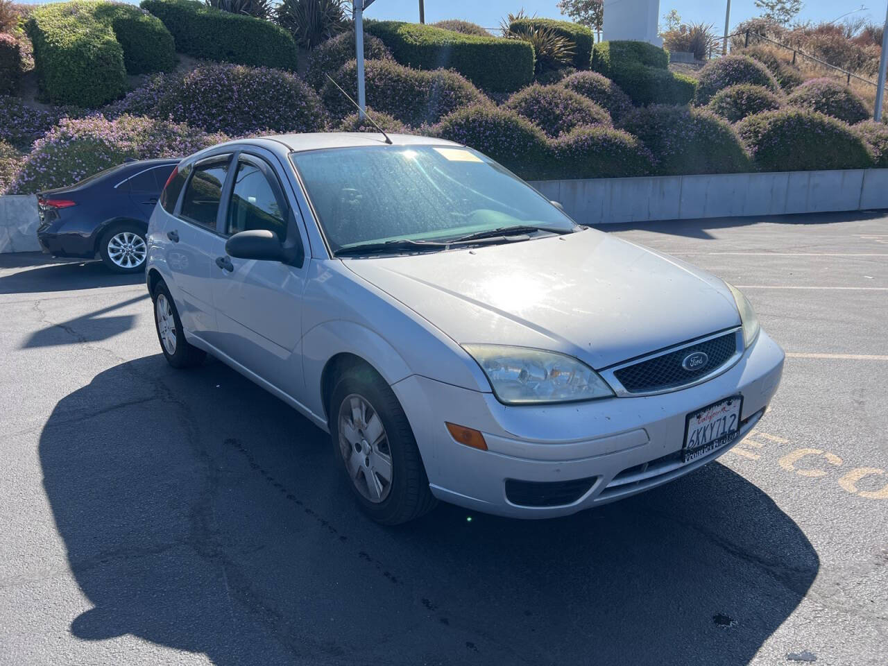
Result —
[[[669,53],[646,42],[600,42],[592,47],[592,69],[607,76],[633,103],[687,104],[694,98],[694,78],[667,69]]]

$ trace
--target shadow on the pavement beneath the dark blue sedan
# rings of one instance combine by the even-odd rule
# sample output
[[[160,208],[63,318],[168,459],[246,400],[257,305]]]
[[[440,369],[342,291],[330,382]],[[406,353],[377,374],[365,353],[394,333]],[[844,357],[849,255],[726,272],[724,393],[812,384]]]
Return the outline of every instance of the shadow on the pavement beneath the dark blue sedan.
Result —
[[[22,268],[26,270],[0,275],[0,294],[75,291],[145,283],[144,273],[112,273],[100,261],[74,259],[59,263],[58,259],[37,253],[0,254],[0,270]]]

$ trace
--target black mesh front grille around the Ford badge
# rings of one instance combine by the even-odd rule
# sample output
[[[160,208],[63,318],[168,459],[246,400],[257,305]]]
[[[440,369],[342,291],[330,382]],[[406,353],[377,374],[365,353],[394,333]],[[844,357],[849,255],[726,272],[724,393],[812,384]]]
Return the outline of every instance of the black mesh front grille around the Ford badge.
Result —
[[[712,370],[724,365],[736,351],[737,334],[731,331],[723,336],[713,337],[696,345],[682,347],[674,352],[664,353],[662,356],[614,370],[614,377],[630,393],[678,388],[678,386],[691,384],[698,377],[707,375]],[[694,369],[682,368],[682,361],[694,352],[705,353],[708,360]]]

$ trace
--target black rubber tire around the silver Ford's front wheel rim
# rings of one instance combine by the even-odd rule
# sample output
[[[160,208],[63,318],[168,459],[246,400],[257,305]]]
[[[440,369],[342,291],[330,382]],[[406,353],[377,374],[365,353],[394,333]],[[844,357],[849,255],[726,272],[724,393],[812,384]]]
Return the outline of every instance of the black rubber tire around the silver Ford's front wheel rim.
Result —
[[[392,480],[387,496],[375,503],[361,494],[345,462],[339,440],[339,411],[347,398],[366,400],[385,427],[385,440],[392,461]],[[337,377],[330,396],[329,430],[337,464],[345,473],[357,502],[370,518],[383,525],[399,525],[419,518],[434,508],[437,500],[429,489],[416,438],[400,402],[385,379],[369,366],[354,366]]]

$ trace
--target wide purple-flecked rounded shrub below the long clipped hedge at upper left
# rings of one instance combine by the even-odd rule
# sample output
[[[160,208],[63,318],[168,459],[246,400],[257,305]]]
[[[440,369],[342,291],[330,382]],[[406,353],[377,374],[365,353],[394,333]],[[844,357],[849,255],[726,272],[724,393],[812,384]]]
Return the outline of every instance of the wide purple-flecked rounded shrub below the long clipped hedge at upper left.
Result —
[[[152,115],[205,131],[241,136],[322,131],[327,126],[318,94],[297,75],[280,69],[205,64],[158,88]]]

